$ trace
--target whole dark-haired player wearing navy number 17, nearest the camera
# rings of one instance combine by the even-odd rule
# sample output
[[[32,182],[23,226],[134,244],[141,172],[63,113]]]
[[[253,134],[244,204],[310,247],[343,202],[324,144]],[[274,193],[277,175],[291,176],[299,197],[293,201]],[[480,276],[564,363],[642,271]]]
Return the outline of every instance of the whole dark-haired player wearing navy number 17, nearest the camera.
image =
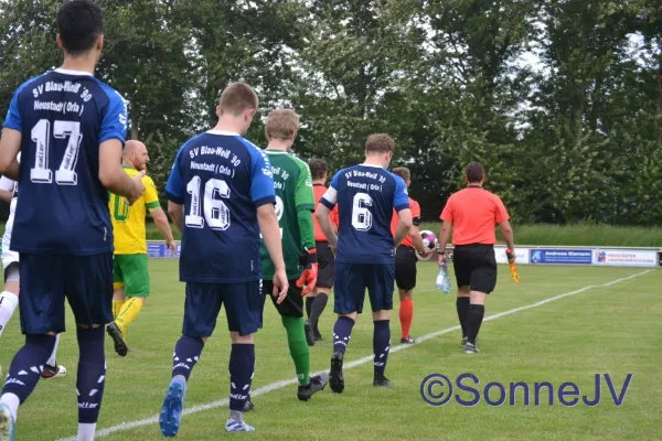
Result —
[[[25,334],[0,398],[0,440],[13,439],[18,407],[65,330],[65,298],[79,347],[77,439],[94,439],[106,376],[104,325],[113,321],[108,191],[130,204],[145,191],[142,176],[131,180],[120,166],[126,103],[94,77],[104,45],[100,8],[86,0],[65,3],[57,30],[62,67],[17,89],[0,139],[0,173],[21,189],[11,249],[21,256]]]

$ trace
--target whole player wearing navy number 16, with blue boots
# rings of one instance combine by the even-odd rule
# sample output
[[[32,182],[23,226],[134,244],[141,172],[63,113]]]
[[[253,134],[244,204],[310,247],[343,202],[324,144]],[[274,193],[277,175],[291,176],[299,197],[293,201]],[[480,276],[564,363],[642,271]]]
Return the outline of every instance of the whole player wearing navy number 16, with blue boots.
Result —
[[[257,106],[257,95],[246,84],[223,90],[216,127],[181,147],[166,186],[168,212],[182,232],[180,280],[186,282],[182,336],[159,418],[166,437],[179,431],[189,376],[222,305],[232,338],[225,430],[255,430],[244,422],[243,410],[255,368],[253,334],[261,327],[260,232],[275,267],[278,303],[288,291],[271,164],[243,138]]]

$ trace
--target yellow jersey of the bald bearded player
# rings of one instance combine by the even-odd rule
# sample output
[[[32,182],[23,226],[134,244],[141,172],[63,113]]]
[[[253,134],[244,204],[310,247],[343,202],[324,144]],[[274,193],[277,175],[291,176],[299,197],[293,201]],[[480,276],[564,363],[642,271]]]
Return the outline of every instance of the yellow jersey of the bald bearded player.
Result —
[[[129,178],[138,174],[138,170],[128,166],[125,166],[125,172]],[[160,204],[157,186],[151,178],[143,176],[142,184],[145,193],[131,206],[127,204],[124,196],[110,193],[109,208],[116,255],[147,254],[145,217],[148,208],[151,212],[160,207]]]

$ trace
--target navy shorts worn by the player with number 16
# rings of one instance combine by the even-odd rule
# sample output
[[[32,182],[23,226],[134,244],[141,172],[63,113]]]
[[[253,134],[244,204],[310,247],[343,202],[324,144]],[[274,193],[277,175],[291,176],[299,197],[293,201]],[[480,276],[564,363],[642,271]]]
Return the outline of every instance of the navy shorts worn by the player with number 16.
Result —
[[[241,283],[186,283],[184,325],[189,337],[209,337],[225,305],[227,329],[239,335],[255,334],[261,327],[263,293],[259,280]]]

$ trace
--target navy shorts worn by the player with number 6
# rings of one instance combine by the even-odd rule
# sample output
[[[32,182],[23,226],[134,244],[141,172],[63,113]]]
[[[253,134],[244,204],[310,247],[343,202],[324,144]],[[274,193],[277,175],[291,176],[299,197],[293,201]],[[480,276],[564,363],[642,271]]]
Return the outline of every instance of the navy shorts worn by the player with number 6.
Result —
[[[393,309],[395,263],[335,262],[333,312],[363,312],[365,290],[373,312]]]

